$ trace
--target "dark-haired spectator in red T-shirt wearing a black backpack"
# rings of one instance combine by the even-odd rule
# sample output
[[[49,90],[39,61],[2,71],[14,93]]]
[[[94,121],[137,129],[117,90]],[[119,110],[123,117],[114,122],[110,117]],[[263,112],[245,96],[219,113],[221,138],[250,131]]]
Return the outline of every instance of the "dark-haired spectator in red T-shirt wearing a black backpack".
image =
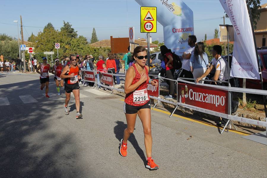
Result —
[[[175,69],[173,68],[173,55],[171,53],[171,50],[168,49],[165,45],[162,45],[160,46],[160,52],[165,62],[166,78],[174,80],[173,75],[174,75]],[[167,83],[169,85],[169,95],[164,96],[164,98],[167,98],[167,99],[173,98],[173,94],[174,94],[174,81],[171,81],[171,80],[167,80]]]

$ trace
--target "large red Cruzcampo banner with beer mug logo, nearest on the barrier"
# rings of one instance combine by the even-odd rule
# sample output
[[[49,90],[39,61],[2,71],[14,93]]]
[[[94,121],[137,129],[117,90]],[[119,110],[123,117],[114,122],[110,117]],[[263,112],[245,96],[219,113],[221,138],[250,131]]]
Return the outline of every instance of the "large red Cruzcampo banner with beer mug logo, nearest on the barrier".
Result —
[[[228,114],[228,91],[178,83],[178,102]]]

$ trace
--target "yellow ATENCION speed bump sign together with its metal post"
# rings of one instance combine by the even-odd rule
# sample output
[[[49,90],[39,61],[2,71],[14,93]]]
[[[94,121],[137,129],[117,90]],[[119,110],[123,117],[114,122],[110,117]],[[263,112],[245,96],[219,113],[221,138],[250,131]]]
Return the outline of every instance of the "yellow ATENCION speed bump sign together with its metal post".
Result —
[[[140,7],[141,33],[147,33],[147,65],[150,68],[150,33],[157,32],[157,7]]]

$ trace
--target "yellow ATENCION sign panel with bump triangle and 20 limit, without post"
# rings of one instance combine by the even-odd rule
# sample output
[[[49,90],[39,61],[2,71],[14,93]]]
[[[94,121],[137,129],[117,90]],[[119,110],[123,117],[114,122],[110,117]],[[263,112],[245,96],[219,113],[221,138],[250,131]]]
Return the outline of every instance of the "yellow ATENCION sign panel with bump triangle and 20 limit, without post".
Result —
[[[147,15],[151,15],[147,18]],[[157,7],[140,7],[140,32],[156,33],[157,32]]]

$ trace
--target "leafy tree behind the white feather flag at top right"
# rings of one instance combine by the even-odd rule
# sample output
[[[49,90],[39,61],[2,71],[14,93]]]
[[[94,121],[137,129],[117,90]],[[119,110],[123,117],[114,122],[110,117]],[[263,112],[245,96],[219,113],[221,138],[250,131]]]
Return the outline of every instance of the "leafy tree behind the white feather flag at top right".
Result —
[[[251,11],[251,19],[252,19],[252,24],[254,28],[256,29],[258,20],[260,19],[260,1],[261,0],[247,0],[247,3],[249,3],[249,8]],[[228,15],[225,15],[226,18],[229,18]]]

